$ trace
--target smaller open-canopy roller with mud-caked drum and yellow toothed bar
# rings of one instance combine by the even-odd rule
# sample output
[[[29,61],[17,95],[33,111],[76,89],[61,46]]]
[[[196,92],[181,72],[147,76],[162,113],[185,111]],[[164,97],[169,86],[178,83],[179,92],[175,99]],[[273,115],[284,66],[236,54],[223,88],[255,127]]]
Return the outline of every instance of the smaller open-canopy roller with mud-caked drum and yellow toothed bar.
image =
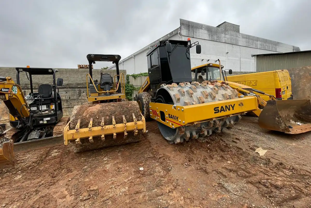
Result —
[[[139,141],[139,134],[146,132],[146,123],[137,102],[125,101],[124,75],[118,66],[121,56],[88,54],[86,58],[89,104],[74,107],[64,128],[64,144],[78,152]],[[92,65],[96,61],[116,64],[116,75],[101,74],[100,81],[94,81]]]

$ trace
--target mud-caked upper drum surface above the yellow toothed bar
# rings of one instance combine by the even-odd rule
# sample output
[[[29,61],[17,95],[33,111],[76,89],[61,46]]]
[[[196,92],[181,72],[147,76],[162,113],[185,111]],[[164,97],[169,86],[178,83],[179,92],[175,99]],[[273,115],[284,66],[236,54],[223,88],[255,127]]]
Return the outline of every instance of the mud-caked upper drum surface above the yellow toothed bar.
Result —
[[[133,122],[132,114],[135,114],[137,121],[142,120],[136,101],[77,105],[72,110],[70,129],[75,129],[78,119],[81,119],[80,128],[87,128],[91,118],[93,127],[100,126],[102,117],[105,125],[112,124],[112,116],[116,124],[123,123],[122,115],[125,116],[126,122]]]

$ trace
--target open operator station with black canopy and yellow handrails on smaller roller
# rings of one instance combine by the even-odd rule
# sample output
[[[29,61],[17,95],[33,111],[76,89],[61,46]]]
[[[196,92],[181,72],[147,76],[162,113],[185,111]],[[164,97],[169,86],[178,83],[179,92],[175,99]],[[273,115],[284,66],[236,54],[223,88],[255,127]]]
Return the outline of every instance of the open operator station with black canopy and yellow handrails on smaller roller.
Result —
[[[87,99],[92,103],[120,102],[125,99],[125,82],[123,73],[119,72],[120,55],[88,54],[89,74],[86,75]],[[96,61],[108,61],[116,65],[116,75],[100,73],[99,80],[93,80],[92,64]],[[89,82],[88,82],[89,79]]]

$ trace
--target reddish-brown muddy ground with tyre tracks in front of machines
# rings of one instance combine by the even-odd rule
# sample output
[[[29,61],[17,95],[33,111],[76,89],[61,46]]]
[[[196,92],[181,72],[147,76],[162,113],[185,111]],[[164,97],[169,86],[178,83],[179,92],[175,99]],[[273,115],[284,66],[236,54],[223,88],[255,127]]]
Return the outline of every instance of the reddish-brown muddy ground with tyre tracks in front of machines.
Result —
[[[252,117],[179,145],[156,122],[147,130],[129,145],[17,154],[0,172],[0,207],[311,207],[311,133],[264,130]]]

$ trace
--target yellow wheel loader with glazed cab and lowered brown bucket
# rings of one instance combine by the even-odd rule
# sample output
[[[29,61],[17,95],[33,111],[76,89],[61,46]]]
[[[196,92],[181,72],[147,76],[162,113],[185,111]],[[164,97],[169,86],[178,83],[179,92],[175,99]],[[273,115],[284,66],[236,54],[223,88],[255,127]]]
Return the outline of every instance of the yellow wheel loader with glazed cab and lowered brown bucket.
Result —
[[[217,60],[220,62],[220,60]],[[224,83],[226,80],[226,71],[223,66],[215,63],[207,63],[192,68],[195,73],[195,81],[202,82],[206,74],[206,79],[217,80]],[[232,74],[232,70],[228,71]],[[198,74],[200,74],[197,76]],[[252,87],[235,82],[225,81],[232,89],[239,92],[239,97],[254,96],[258,100],[258,107],[252,112],[246,114],[258,116],[258,124],[261,128],[280,131],[288,134],[298,134],[311,131],[311,104],[309,99],[299,100],[278,100],[273,95],[266,94]],[[264,94],[269,97],[266,101],[258,94]]]

